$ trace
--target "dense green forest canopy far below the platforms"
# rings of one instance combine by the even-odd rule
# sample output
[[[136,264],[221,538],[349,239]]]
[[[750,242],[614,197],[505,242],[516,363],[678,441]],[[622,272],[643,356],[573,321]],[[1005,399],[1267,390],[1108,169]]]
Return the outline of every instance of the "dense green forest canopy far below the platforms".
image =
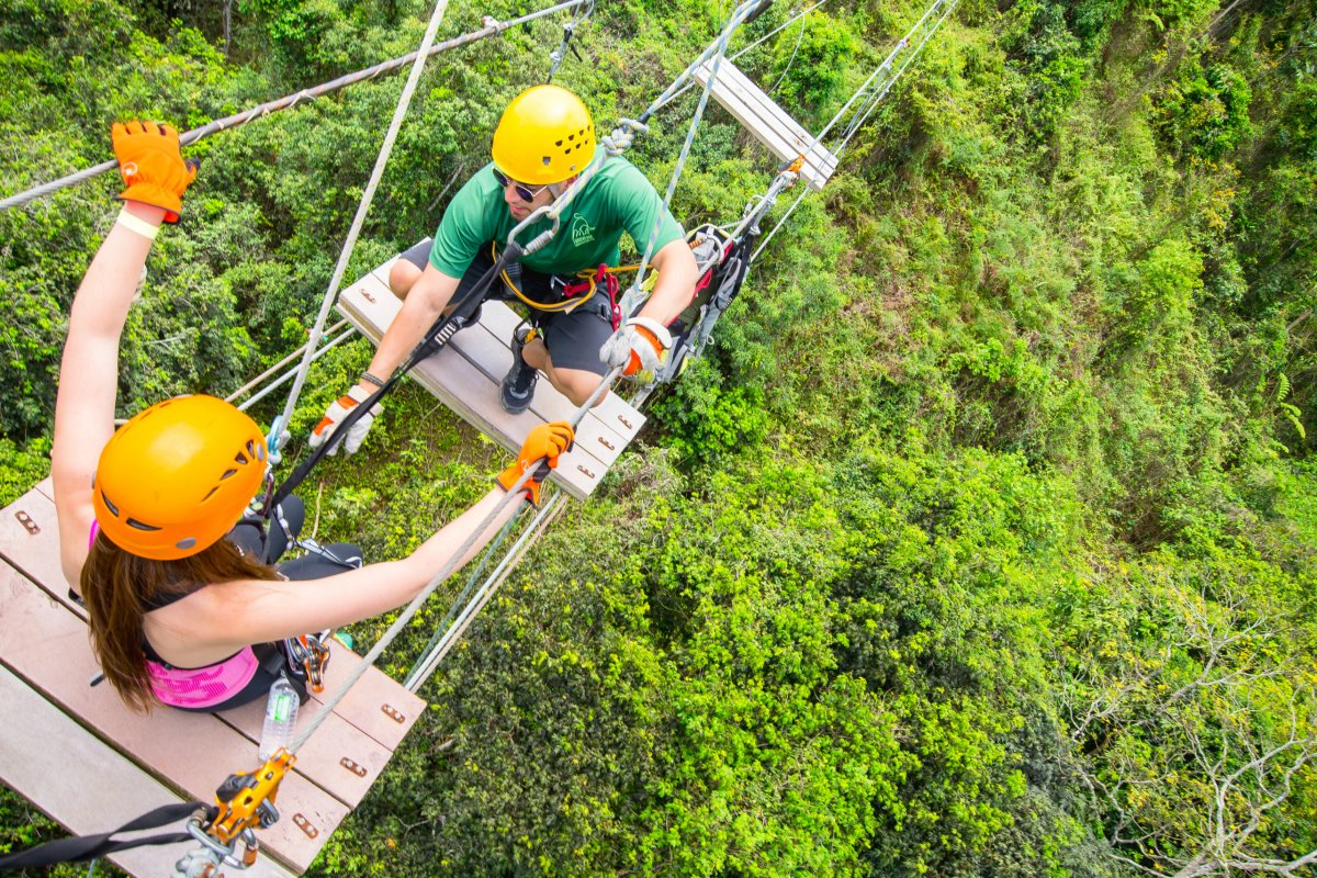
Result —
[[[601,0],[557,82],[611,126],[730,5]],[[454,3],[441,34],[531,8]],[[739,63],[818,129],[922,12],[831,0]],[[1314,12],[961,0],[601,495],[423,690],[317,874],[1313,874]],[[427,16],[0,0],[0,191],[104,161],[113,120],[194,128],[402,55]],[[433,229],[561,24],[428,66],[349,276]],[[129,321],[122,413],[224,395],[302,342],[400,88],[188,150],[202,174]],[[695,100],[632,150],[658,184]],[[734,221],[774,165],[711,108],[674,212]],[[4,503],[49,466],[112,176],[0,213]],[[370,350],[317,363],[292,454]],[[321,534],[389,558],[500,466],[407,387],[308,503]],[[0,796],[0,852],[53,832]]]

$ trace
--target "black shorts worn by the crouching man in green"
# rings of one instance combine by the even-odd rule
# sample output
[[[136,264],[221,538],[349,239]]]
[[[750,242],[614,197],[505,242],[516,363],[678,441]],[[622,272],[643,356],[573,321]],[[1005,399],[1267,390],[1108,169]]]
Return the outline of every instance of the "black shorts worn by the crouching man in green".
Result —
[[[404,250],[400,258],[424,271],[425,266],[429,265],[429,249],[432,245],[433,240],[425,238],[420,244]],[[490,245],[485,244],[475,254],[466,274],[462,275],[452,300],[461,301],[491,267],[494,267],[494,257],[490,254]],[[522,292],[528,299],[535,301],[556,301],[562,297],[553,288],[552,275],[540,274],[520,265],[516,265],[515,269],[520,271],[515,272],[510,269],[508,275],[518,280]],[[518,274],[520,278],[516,276]],[[495,283],[485,297],[520,301],[502,282]],[[597,291],[594,296],[573,308],[570,313],[527,308],[531,312],[531,324],[544,337],[544,346],[549,349],[549,358],[553,361],[554,369],[576,369],[601,376],[608,374],[608,367],[599,361],[599,348],[612,334],[611,305],[608,304],[608,295],[603,290]]]

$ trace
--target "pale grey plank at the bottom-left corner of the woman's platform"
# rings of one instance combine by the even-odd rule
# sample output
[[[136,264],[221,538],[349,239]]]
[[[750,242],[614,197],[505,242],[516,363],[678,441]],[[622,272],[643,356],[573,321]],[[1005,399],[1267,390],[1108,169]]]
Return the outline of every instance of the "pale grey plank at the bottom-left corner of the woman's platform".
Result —
[[[0,667],[0,704],[5,706],[5,733],[0,736],[0,779],[72,835],[108,832],[151,808],[186,802],[142,774],[136,765],[4,667]],[[71,765],[95,766],[95,777],[70,771]],[[175,829],[166,827],[120,837]],[[171,874],[174,864],[194,848],[196,842],[134,848],[111,854],[109,860],[130,875],[158,878]],[[291,878],[294,873],[270,857],[259,857],[242,874],[253,878]]]

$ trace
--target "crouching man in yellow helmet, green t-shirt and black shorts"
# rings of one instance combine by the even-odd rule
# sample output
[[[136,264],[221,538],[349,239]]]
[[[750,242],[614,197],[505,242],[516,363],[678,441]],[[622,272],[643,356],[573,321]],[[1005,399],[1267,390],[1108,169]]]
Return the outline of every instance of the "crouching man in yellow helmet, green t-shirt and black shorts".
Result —
[[[342,417],[374,392],[425,330],[493,266],[508,233],[535,209],[552,204],[590,165],[599,149],[585,104],[558,86],[536,86],[508,104],[494,132],[494,162],[477,171],[453,197],[435,233],[403,254],[390,286],[403,308],[379,342],[360,383],[335,401],[311,434],[316,448]],[[549,228],[539,220],[520,233],[529,242]],[[616,315],[605,283],[590,290],[577,272],[618,263],[618,242],[628,233],[644,249],[657,225],[651,263],[655,288],[635,315]],[[591,176],[561,216],[557,236],[503,283],[519,290],[531,308],[531,330],[512,340],[514,363],[499,388],[512,413],[531,404],[537,371],[577,405],[614,366],[626,374],[655,369],[672,345],[668,324],[690,304],[698,270],[681,225],[662,207],[645,176],[623,158],[610,158]],[[495,283],[495,294],[503,284]],[[365,413],[341,446],[356,452],[370,429]]]

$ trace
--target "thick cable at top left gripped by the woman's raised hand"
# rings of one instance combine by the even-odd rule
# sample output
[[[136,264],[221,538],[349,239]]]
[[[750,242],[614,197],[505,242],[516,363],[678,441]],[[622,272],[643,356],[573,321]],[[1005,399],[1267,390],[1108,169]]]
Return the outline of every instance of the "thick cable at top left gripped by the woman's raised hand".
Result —
[[[518,18],[512,18],[510,21],[498,21],[495,18],[491,18],[490,16],[486,16],[483,18],[485,26],[482,29],[473,30],[471,33],[462,34],[461,37],[454,37],[445,42],[437,43],[431,49],[428,49],[427,51],[431,55],[437,55],[440,53],[448,51],[449,49],[457,49],[460,46],[466,46],[473,42],[479,42],[481,39],[485,39],[487,37],[497,36],[510,28],[515,28],[519,24],[535,21],[536,18],[543,18],[556,12],[572,9],[574,7],[579,7],[586,3],[594,3],[594,0],[565,0],[564,3],[558,3],[547,9],[540,9],[539,12],[532,12],[520,16]],[[407,55],[402,55],[400,58],[394,58],[391,61],[381,62],[373,67],[358,70],[357,72],[353,74],[345,74],[342,76],[338,76],[337,79],[332,79],[319,86],[313,86],[311,88],[303,88],[299,92],[295,92],[292,95],[286,95],[283,97],[279,97],[278,100],[267,101],[265,104],[261,104],[259,107],[253,107],[252,109],[244,111],[241,113],[236,113],[233,116],[225,116],[224,118],[217,118],[207,125],[203,125],[202,128],[194,128],[190,132],[184,132],[179,137],[179,145],[188,146],[191,143],[195,143],[200,140],[209,137],[211,134],[216,134],[219,132],[224,132],[230,128],[238,128],[241,125],[246,125],[248,122],[261,118],[262,116],[269,116],[270,113],[275,113],[281,109],[288,109],[291,107],[296,107],[303,101],[315,100],[316,97],[324,97],[325,95],[336,92],[340,88],[360,82],[365,82],[367,79],[374,79],[381,74],[392,72],[414,62],[417,58],[417,55],[419,53],[414,51]],[[49,183],[34,186],[33,188],[26,190],[25,192],[20,192],[18,195],[9,196],[3,201],[0,201],[0,211],[12,207],[18,207],[29,201],[34,201],[53,192],[58,192],[59,190],[68,188],[70,186],[76,186],[78,183],[90,180],[94,176],[100,176],[101,174],[107,174],[117,168],[119,168],[119,162],[101,162],[100,165],[94,165],[92,167],[83,168],[75,174],[62,176],[58,180],[51,180]]]

